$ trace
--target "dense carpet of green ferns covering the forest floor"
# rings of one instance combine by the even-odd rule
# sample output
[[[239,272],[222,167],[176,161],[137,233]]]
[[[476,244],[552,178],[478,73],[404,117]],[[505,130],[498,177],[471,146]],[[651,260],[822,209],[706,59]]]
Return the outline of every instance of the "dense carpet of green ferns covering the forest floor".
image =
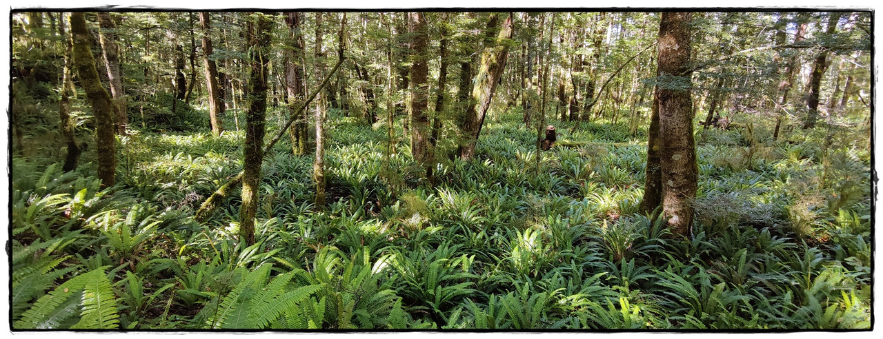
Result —
[[[501,114],[472,162],[449,160],[455,145],[440,141],[430,188],[400,129],[387,162],[385,125],[332,111],[328,206],[312,203],[312,154],[283,141],[264,158],[258,244],[242,249],[238,190],[192,220],[242,168],[229,116],[218,138],[133,124],[108,190],[90,163],[63,175],[56,159],[14,156],[13,269],[106,271],[124,328],[870,326],[867,128],[774,142],[771,125],[698,127],[696,224],[678,239],[638,213],[644,129],[550,122],[559,140],[586,143],[542,152],[538,170],[534,129]],[[268,117],[274,135],[281,118]],[[271,277],[298,289],[291,303],[250,301]],[[17,272],[13,290],[26,279]],[[13,320],[50,288],[13,300]],[[230,315],[270,307],[269,320]]]

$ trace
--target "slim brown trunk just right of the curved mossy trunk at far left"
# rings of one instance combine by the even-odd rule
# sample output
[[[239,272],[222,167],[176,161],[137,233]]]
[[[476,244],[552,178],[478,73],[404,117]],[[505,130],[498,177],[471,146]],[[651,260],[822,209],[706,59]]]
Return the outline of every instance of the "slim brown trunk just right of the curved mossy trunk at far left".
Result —
[[[102,42],[102,56],[104,57],[104,64],[107,66],[110,94],[113,95],[114,113],[117,116],[114,126],[117,128],[117,133],[125,134],[125,127],[129,124],[129,118],[126,115],[123,79],[119,75],[117,39],[114,34],[116,26],[113,19],[110,18],[110,13],[107,11],[98,12],[98,22],[102,27],[98,31],[98,39]]]

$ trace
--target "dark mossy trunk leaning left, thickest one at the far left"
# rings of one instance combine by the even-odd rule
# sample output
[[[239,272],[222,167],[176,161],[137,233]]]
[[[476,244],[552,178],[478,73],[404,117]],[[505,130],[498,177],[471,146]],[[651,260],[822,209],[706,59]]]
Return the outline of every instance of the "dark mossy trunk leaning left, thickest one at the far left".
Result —
[[[92,35],[86,28],[86,15],[83,12],[71,14],[71,34],[73,38],[73,65],[79,72],[79,83],[92,104],[95,116],[95,147],[98,157],[98,178],[102,186],[116,184],[117,150],[114,138],[114,111],[110,95],[102,87],[92,56]]]

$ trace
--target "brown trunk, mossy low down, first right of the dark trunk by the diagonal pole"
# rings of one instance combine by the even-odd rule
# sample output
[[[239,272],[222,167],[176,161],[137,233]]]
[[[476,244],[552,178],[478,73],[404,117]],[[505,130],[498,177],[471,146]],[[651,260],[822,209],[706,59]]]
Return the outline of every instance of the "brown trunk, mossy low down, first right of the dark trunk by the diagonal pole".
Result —
[[[297,11],[285,13],[285,23],[289,28],[289,37],[293,42],[291,48],[283,52],[285,64],[285,92],[288,94],[288,107],[290,114],[298,112],[300,117],[295,120],[289,129],[291,135],[291,153],[303,155],[308,151],[306,132],[306,110],[297,111],[298,105],[304,101],[304,34],[301,32],[301,14]]]

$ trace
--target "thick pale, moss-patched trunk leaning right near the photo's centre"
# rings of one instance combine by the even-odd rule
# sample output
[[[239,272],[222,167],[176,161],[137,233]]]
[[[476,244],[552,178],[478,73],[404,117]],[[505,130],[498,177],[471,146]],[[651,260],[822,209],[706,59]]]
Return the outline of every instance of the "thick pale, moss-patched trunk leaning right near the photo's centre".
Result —
[[[464,145],[460,157],[464,160],[472,160],[475,157],[475,145],[479,141],[481,126],[485,122],[487,109],[491,106],[494,98],[494,90],[502,78],[502,71],[506,66],[506,57],[509,45],[507,41],[512,38],[512,17],[502,24],[500,34],[497,35],[496,43],[485,48],[481,55],[479,73],[472,87],[472,97],[475,99],[474,114],[467,112],[467,118],[463,127],[468,133],[469,140]]]

